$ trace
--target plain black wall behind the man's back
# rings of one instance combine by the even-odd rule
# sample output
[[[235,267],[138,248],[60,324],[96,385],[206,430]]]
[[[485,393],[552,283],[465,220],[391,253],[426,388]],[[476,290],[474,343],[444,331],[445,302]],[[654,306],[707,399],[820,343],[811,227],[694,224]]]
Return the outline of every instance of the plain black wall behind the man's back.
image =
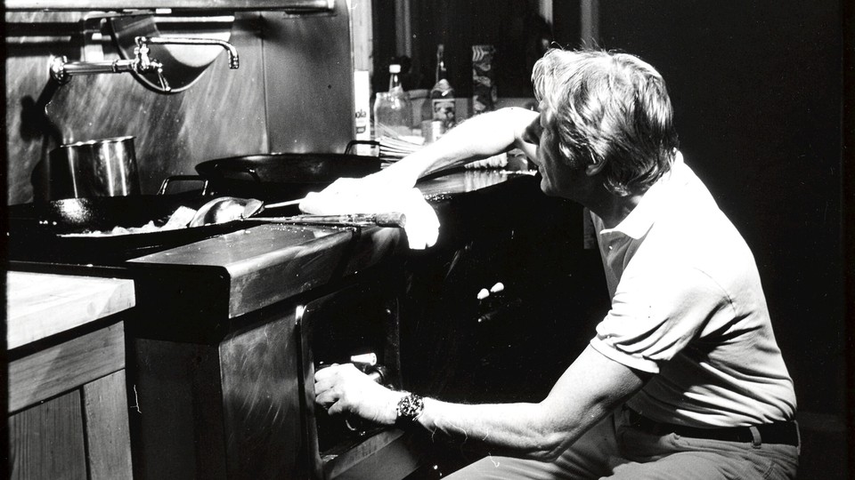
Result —
[[[753,249],[800,409],[835,413],[845,392],[839,10],[833,0],[600,3],[601,45],[663,74],[688,164]]]

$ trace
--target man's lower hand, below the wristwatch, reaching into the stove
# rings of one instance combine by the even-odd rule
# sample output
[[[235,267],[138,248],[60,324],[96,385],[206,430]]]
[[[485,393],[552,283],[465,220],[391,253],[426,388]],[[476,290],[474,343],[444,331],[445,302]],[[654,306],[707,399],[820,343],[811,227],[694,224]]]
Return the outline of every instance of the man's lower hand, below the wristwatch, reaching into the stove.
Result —
[[[393,425],[402,397],[403,393],[379,385],[354,364],[333,364],[314,374],[314,400],[330,415],[353,413],[380,425]]]

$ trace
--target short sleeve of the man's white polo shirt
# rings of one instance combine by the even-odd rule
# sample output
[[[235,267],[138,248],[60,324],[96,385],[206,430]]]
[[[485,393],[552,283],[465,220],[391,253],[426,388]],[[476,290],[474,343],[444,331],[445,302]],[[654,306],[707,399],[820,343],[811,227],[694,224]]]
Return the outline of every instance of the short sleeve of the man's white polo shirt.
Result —
[[[647,269],[643,275],[627,271],[590,345],[619,364],[658,373],[660,364],[729,311],[727,293],[696,268]]]

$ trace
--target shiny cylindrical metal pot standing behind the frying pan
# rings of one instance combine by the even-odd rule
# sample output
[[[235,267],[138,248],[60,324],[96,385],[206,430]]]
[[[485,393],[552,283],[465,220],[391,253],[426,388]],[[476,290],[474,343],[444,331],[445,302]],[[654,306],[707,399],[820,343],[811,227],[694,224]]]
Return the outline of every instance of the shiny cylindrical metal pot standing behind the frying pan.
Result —
[[[48,198],[140,194],[134,137],[78,141],[53,149]]]

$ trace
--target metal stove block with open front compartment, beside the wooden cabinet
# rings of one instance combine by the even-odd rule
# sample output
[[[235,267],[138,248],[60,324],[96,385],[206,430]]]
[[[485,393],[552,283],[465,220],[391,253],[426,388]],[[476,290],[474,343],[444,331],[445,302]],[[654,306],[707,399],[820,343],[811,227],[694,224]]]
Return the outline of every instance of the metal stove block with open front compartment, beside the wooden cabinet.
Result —
[[[128,261],[136,476],[403,478],[417,468],[403,432],[314,404],[315,370],[354,356],[375,356],[365,367],[400,387],[401,235],[265,224]]]

